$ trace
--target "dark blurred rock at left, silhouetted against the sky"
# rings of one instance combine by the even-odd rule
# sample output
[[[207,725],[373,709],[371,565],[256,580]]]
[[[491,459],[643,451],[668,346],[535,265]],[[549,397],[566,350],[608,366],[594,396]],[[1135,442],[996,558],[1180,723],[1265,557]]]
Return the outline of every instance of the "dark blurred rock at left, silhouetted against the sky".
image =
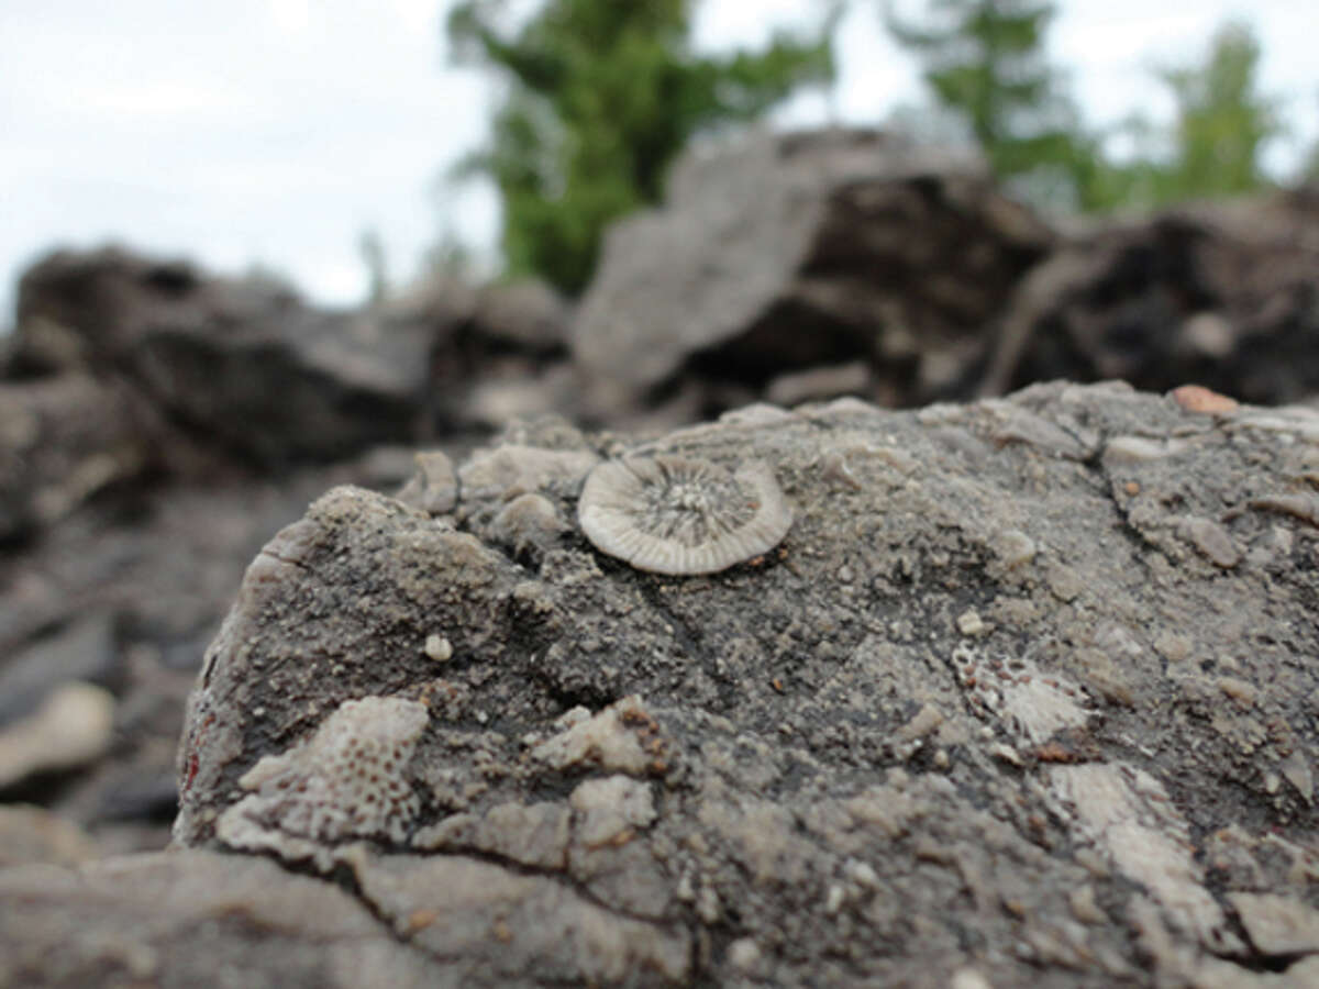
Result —
[[[28,360],[58,327],[58,361]],[[18,368],[86,364],[170,422],[266,465],[412,439],[433,322],[327,313],[268,278],[216,278],[117,248],[54,252],[18,286]],[[46,347],[45,349],[50,349]],[[45,352],[45,351],[44,351]]]

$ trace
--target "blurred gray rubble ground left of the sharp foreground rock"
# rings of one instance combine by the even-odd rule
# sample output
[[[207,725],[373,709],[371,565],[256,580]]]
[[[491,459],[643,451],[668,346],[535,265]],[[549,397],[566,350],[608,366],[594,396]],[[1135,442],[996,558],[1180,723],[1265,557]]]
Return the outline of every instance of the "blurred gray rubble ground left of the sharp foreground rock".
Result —
[[[278,481],[109,492],[0,554],[0,764],[26,767],[0,799],[58,811],[103,852],[162,847],[183,699],[244,567],[327,487],[397,489],[413,458],[385,452]],[[113,744],[95,764],[42,773],[49,753],[8,729],[75,682],[113,694]],[[78,728],[61,729],[61,745]]]

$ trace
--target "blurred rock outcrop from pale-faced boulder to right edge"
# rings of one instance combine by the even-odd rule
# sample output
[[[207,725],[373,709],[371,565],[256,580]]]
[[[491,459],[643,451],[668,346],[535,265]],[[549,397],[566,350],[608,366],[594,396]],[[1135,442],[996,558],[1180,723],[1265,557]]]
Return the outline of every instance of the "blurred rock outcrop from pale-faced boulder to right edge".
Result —
[[[885,406],[1031,381],[1319,390],[1319,190],[1054,229],[964,156],[890,135],[694,153],[616,224],[572,331],[582,411],[669,425],[768,400]]]

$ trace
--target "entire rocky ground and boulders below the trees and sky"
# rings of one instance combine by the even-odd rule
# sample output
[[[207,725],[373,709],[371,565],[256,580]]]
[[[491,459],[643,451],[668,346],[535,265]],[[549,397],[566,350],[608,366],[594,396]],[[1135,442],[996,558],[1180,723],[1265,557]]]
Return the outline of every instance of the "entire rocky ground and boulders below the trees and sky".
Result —
[[[1315,984],[1315,203],[1058,231],[831,132],[682,165],[575,307],[51,256],[0,985]],[[601,554],[624,455],[762,462],[786,538]]]

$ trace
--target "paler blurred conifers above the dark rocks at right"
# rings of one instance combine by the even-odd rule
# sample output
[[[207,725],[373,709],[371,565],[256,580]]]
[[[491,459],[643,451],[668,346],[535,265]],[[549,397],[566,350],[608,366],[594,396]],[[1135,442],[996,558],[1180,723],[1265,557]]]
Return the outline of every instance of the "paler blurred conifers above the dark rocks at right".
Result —
[[[1171,128],[1136,115],[1111,133],[1096,133],[1082,124],[1045,61],[1055,4],[930,0],[927,26],[900,21],[892,0],[884,9],[889,32],[922,55],[931,91],[966,120],[995,174],[1028,193],[1055,190],[1037,200],[1101,211],[1268,185],[1260,153],[1281,127],[1275,103],[1257,91],[1260,46],[1242,24],[1215,34],[1203,65],[1157,73],[1177,104]],[[1134,146],[1121,162],[1107,150],[1115,136]]]

